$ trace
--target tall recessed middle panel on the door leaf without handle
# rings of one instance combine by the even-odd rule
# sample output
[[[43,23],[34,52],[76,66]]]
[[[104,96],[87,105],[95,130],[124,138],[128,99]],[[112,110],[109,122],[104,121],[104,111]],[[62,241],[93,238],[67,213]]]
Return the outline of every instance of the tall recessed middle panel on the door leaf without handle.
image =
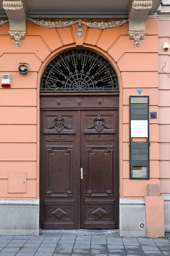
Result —
[[[46,146],[46,197],[69,197],[73,180],[73,145]],[[57,184],[57,186],[56,186]]]

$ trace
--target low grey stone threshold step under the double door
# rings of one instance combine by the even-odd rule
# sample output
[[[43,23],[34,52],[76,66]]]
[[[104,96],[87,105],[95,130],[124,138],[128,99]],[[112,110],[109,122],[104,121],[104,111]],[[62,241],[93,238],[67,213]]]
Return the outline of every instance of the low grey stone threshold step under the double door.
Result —
[[[74,235],[74,236],[119,236],[119,229],[78,229],[78,230],[41,230],[40,235],[58,236],[58,235]]]

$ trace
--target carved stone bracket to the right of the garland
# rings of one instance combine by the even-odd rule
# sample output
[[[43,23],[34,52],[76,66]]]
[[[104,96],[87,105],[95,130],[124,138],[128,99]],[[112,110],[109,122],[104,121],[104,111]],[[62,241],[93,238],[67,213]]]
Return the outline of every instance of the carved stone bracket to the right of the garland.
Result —
[[[153,0],[133,0],[129,6],[129,32],[130,39],[134,39],[135,47],[140,47],[140,39],[146,33],[145,22]]]

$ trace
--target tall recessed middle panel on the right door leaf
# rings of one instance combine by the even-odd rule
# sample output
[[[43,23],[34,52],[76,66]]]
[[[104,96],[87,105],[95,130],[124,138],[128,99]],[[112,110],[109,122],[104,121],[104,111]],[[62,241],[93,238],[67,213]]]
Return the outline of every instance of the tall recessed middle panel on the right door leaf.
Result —
[[[86,145],[87,197],[108,197],[112,190],[113,146]],[[104,163],[104,164],[103,164]],[[97,180],[97,182],[96,182]]]

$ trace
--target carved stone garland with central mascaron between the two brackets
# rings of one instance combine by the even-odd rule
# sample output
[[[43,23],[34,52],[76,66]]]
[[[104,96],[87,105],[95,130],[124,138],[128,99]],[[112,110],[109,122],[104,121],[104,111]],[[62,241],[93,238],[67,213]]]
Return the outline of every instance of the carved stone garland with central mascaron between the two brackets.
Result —
[[[65,21],[53,21],[53,20],[39,20],[39,19],[32,19],[27,17],[27,20],[30,20],[37,26],[42,26],[48,29],[60,29],[72,26],[73,24],[77,23],[76,34],[80,38],[83,35],[83,25],[87,26],[91,29],[113,29],[118,26],[122,26],[128,20],[111,20],[111,21],[84,21],[84,20],[65,20]]]

